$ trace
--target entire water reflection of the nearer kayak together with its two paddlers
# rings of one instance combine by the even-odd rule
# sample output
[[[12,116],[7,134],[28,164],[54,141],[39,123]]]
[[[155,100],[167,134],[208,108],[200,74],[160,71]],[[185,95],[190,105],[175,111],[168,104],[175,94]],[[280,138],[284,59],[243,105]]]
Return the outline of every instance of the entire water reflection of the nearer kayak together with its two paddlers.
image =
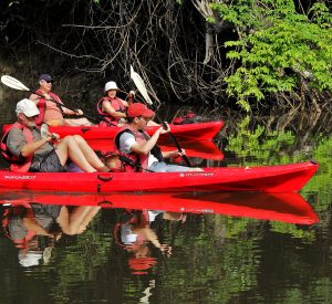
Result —
[[[226,214],[313,224],[318,217],[298,193],[1,193],[2,228],[19,248],[19,262],[48,264],[63,235],[81,234],[102,208],[116,210],[113,240],[133,274],[147,274],[158,254],[170,256],[173,244],[159,239],[165,222],[186,224],[191,214]],[[158,253],[159,252],[159,253]]]

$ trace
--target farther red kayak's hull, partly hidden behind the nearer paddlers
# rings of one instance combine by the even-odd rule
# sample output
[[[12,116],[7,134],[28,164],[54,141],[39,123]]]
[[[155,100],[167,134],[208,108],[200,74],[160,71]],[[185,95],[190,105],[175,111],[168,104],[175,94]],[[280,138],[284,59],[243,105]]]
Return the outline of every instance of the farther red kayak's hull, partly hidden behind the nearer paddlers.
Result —
[[[224,122],[209,122],[209,123],[196,123],[184,125],[169,125],[170,132],[176,137],[191,138],[191,139],[212,139],[220,128],[224,126]],[[158,126],[148,126],[145,130],[147,134],[153,135]],[[113,139],[118,132],[118,127],[110,126],[59,126],[50,127],[50,132],[59,134],[61,137],[66,135],[79,134],[85,139]],[[166,137],[167,134],[162,135]]]

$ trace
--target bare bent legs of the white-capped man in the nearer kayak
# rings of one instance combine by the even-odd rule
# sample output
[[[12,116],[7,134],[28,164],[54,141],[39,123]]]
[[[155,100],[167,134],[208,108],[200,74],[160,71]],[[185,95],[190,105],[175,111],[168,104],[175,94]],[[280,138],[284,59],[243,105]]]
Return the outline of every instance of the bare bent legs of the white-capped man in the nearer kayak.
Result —
[[[86,155],[89,155],[89,153],[92,155],[89,158],[86,158]],[[86,172],[93,172],[96,169],[104,167],[102,160],[98,159],[96,154],[91,148],[90,150],[85,149],[83,153],[81,146],[72,136],[66,136],[61,140],[61,143],[56,146],[56,154],[59,156],[61,165],[64,165],[70,158],[75,165],[77,165],[81,169],[83,169]]]

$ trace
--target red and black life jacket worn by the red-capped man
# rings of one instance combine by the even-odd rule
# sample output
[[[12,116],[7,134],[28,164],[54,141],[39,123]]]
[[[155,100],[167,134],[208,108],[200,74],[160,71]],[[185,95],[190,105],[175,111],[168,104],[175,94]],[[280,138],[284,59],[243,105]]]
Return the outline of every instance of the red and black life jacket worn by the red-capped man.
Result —
[[[135,140],[138,144],[144,144],[146,140],[148,140],[151,138],[145,132],[136,130],[131,125],[123,126],[121,128],[121,130],[116,134],[116,136],[114,138],[116,153],[120,156],[124,156],[125,158],[128,159],[128,161],[126,161],[126,160],[123,161],[123,158],[121,158],[122,165],[124,167],[124,171],[125,172],[139,172],[139,171],[142,171],[142,169],[147,169],[148,154],[147,155],[138,155],[136,153],[125,154],[120,150],[120,136],[125,132],[133,134],[135,137]],[[162,150],[157,145],[155,145],[152,148],[151,154],[154,157],[156,157],[158,159],[158,161],[164,161]]]

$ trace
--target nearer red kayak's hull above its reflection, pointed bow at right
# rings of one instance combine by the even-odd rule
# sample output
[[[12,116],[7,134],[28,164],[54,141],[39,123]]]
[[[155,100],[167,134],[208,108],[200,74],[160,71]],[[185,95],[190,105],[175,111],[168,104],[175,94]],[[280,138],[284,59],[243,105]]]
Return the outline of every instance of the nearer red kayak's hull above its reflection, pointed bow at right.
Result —
[[[314,175],[312,161],[246,168],[204,168],[191,172],[11,172],[0,188],[70,192],[299,191]]]

